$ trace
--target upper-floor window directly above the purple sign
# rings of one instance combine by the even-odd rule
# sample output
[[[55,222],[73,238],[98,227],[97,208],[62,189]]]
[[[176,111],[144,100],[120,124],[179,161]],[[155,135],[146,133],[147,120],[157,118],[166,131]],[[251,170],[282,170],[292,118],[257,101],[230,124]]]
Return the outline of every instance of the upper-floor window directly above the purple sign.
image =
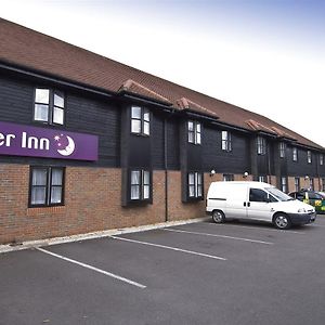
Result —
[[[36,88],[34,120],[49,125],[64,125],[65,99],[62,91]]]

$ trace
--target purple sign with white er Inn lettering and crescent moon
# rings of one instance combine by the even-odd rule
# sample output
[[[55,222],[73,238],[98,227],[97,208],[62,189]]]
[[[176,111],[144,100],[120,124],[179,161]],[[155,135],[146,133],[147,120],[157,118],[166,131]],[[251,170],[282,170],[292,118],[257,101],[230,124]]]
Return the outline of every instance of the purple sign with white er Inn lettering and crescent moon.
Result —
[[[99,136],[0,121],[0,155],[99,159]]]

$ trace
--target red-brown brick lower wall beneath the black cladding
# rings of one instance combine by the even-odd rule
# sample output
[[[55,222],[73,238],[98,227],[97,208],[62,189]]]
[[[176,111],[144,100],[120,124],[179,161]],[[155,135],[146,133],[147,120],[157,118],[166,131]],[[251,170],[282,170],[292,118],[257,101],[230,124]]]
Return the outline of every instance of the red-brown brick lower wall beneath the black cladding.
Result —
[[[210,183],[221,180],[222,174],[205,174],[205,197]],[[237,174],[235,180],[244,179]],[[166,220],[165,171],[153,172],[153,204],[136,207],[121,207],[120,169],[67,167],[62,207],[28,208],[28,187],[29,166],[0,165],[0,244]],[[291,187],[289,179],[290,191]],[[181,190],[181,172],[168,171],[168,221],[204,217],[205,200],[184,204]]]

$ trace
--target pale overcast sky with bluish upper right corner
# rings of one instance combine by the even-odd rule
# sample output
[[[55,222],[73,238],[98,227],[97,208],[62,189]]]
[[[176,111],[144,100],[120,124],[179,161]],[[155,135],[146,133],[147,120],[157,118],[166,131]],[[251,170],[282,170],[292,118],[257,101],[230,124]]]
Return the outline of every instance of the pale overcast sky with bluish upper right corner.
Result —
[[[325,1],[0,0],[0,15],[325,146]]]

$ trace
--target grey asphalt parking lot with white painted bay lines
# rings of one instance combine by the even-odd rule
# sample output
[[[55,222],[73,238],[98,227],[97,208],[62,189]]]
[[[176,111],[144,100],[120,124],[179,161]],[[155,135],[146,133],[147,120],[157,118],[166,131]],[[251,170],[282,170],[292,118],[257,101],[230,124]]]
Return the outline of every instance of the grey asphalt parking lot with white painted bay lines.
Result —
[[[325,216],[0,253],[0,324],[325,324]]]

